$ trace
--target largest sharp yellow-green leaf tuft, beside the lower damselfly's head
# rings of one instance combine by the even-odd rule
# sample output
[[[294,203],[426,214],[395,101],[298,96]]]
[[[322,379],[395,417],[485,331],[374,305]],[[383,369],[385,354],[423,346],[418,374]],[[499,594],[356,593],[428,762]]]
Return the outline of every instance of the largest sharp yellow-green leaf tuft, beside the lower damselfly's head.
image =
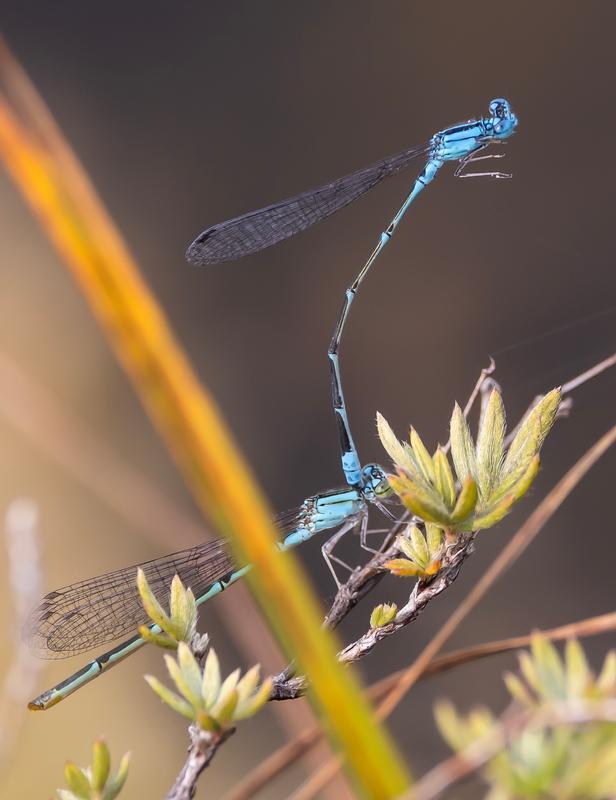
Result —
[[[494,389],[473,441],[460,406],[451,417],[451,455],[455,475],[443,449],[431,456],[412,428],[410,444],[399,442],[388,422],[377,415],[383,447],[396,467],[389,477],[405,507],[448,537],[491,528],[528,491],[539,470],[539,451],[560,404],[560,390],[543,397],[521,423],[505,448],[505,409]],[[412,559],[411,559],[412,560]]]

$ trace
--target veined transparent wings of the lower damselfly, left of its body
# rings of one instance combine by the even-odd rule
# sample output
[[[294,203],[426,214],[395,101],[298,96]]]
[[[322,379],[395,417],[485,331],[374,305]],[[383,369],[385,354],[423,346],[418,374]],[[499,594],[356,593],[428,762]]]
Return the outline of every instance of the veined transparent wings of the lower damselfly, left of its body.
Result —
[[[299,511],[280,514],[282,535],[297,524]],[[169,588],[179,575],[196,598],[235,568],[224,539],[108,572],[49,592],[30,614],[23,638],[39,658],[68,658],[121,636],[148,622],[137,591],[137,568],[145,572],[159,602],[169,608]]]

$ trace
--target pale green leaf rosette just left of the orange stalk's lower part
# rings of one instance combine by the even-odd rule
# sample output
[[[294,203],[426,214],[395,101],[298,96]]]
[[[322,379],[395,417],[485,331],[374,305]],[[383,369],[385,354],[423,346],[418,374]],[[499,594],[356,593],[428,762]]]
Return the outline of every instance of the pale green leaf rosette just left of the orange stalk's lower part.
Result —
[[[146,681],[164,703],[210,733],[220,733],[233,723],[252,717],[265,705],[272,691],[270,678],[258,686],[258,665],[241,679],[236,669],[223,681],[213,648],[207,655],[203,672],[184,642],[178,644],[177,661],[166,655],[165,663],[178,693],[152,675],[146,675]]]

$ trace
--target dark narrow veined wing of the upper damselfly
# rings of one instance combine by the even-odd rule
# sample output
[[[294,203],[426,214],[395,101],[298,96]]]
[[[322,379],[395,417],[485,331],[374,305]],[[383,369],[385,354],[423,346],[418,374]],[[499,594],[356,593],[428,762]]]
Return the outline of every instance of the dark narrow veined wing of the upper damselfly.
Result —
[[[193,264],[217,264],[270,247],[357,200],[384,178],[395,175],[418,156],[425,154],[429,148],[430,145],[425,144],[404,150],[333,183],[213,225],[197,236],[186,251],[186,258]]]

